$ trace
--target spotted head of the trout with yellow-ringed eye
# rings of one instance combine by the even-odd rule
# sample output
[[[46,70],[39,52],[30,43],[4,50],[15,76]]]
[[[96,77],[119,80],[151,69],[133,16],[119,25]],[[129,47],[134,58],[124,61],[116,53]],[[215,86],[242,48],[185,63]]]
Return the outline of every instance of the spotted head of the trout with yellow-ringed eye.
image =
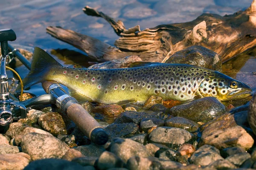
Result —
[[[201,82],[199,92],[204,97],[214,96],[220,101],[242,99],[253,93],[248,85],[218,71]]]

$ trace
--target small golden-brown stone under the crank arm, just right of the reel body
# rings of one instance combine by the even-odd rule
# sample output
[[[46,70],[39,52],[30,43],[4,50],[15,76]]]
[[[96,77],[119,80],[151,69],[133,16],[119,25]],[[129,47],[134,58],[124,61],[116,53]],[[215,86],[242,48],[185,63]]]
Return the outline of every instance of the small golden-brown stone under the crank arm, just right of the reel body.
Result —
[[[20,119],[20,120],[18,120],[18,122],[25,123],[26,125],[32,126],[32,125],[35,125],[38,122],[38,118],[42,114],[45,114],[45,113],[42,112],[42,111],[31,109],[31,110],[29,110],[29,113],[27,113],[27,118],[26,119]]]

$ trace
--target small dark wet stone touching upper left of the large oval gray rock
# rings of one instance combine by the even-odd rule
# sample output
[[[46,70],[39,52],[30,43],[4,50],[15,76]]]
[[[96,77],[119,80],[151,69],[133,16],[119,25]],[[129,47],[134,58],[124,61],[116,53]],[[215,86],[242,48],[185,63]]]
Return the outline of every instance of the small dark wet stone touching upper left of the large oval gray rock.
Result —
[[[160,127],[164,125],[164,121],[157,118],[144,118],[140,122],[140,130],[147,132],[153,126]]]

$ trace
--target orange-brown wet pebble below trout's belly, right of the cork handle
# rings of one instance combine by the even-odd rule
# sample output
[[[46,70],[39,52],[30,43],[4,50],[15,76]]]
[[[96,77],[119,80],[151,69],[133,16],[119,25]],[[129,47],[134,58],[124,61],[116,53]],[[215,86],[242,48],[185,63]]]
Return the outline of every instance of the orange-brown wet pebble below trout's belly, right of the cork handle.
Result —
[[[119,116],[123,111],[123,108],[119,105],[99,105],[93,108],[93,113],[101,113],[107,117]]]

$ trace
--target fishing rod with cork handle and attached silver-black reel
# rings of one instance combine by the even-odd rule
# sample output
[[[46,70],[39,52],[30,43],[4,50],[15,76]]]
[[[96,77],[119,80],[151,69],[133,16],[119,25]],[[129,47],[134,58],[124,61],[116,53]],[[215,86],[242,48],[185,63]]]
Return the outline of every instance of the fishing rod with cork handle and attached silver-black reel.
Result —
[[[88,113],[75,98],[67,92],[57,82],[42,82],[42,87],[47,94],[33,97],[26,101],[11,99],[8,90],[8,77],[6,74],[6,59],[12,61],[14,57],[22,62],[26,68],[31,69],[30,62],[20,54],[20,51],[8,44],[8,41],[16,40],[16,34],[12,29],[0,30],[1,43],[1,68],[0,68],[0,126],[8,126],[13,119],[26,118],[27,107],[32,105],[46,105],[54,103],[61,111],[79,127],[79,129],[94,143],[105,144],[108,141],[106,130]],[[10,55],[9,55],[9,51]],[[18,76],[19,77],[19,76]],[[21,80],[21,79],[20,79]],[[20,81],[22,86],[22,81]],[[21,90],[21,97],[23,87]],[[1,122],[2,121],[2,122]]]

